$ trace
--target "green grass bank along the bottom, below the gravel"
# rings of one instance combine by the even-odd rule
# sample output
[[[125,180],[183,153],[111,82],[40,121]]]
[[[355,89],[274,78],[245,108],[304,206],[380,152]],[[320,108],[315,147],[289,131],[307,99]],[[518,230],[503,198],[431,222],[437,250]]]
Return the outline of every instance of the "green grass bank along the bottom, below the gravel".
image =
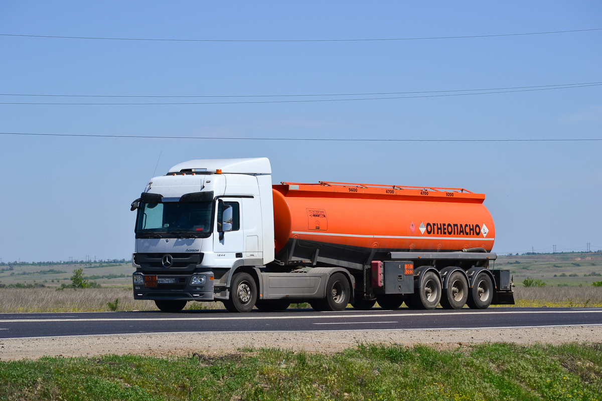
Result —
[[[598,400],[601,392],[600,343],[0,363],[0,399],[15,400]]]

